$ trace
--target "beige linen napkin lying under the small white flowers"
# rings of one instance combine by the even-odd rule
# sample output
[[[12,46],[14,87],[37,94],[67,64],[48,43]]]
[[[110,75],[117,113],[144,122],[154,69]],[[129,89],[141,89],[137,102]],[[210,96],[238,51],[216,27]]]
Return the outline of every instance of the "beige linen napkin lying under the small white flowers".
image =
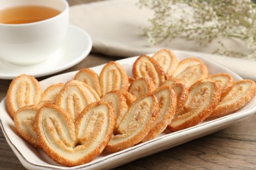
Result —
[[[70,24],[85,29],[93,39],[93,48],[109,56],[131,57],[154,53],[160,48],[200,52],[243,78],[256,81],[256,61],[211,54],[216,50],[217,41],[207,46],[196,42],[175,39],[169,43],[152,46],[144,36],[152,11],[139,9],[138,0],[110,0],[70,7]],[[228,48],[246,50],[243,42],[228,41]]]

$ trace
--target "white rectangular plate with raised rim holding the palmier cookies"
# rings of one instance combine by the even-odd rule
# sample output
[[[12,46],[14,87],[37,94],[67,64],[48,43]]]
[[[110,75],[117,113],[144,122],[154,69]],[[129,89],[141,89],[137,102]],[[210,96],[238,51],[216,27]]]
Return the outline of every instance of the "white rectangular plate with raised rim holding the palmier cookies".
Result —
[[[230,71],[229,69],[226,69],[222,65],[219,65],[218,63],[215,63],[210,59],[203,58],[203,56],[199,56],[198,54],[176,50],[173,52],[175,52],[179,61],[184,58],[190,57],[202,59],[203,63],[205,63],[205,65],[209,69],[210,74],[229,73],[234,77],[235,80],[242,79],[240,76],[236,75],[236,73]],[[127,74],[131,76],[131,69],[136,59],[137,57],[126,58],[121,59],[117,62],[120,63],[125,71],[127,71]],[[100,73],[103,66],[104,65],[99,65],[91,69],[93,69],[96,73]],[[40,82],[41,88],[44,90],[51,84],[58,82],[67,82],[68,80],[74,78],[75,73],[77,73],[77,71],[53,76],[51,78],[43,80]],[[197,126],[177,131],[175,133],[161,133],[158,137],[156,137],[156,139],[153,139],[146,143],[138,144],[126,150],[122,150],[121,152],[117,152],[114,154],[107,154],[104,152],[100,156],[95,158],[95,160],[84,165],[79,165],[76,167],[64,167],[52,161],[42,150],[33,148],[33,146],[30,146],[30,144],[26,143],[26,141],[24,141],[16,133],[12,118],[9,116],[5,108],[5,99],[3,99],[0,104],[1,128],[3,130],[5,138],[11,146],[14,154],[16,154],[22,165],[24,165],[24,167],[26,167],[27,169],[110,169],[128,163],[130,161],[149,156],[150,154],[155,154],[156,152],[160,152],[161,150],[167,150],[168,148],[171,148],[173,146],[177,146],[193,139],[208,135],[210,133],[223,129],[224,127],[230,126],[230,124],[238,122],[239,120],[242,120],[247,116],[251,116],[255,112],[256,97],[254,97],[247,105],[245,105],[244,108],[228,116],[223,116],[215,120],[202,122]]]

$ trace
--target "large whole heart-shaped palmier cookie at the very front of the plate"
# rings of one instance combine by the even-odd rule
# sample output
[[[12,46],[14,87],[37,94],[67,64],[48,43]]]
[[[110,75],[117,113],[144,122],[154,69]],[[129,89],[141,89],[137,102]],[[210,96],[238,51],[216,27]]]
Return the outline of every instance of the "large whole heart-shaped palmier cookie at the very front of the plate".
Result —
[[[57,105],[41,107],[35,117],[41,148],[54,161],[67,166],[81,165],[98,156],[110,141],[113,128],[114,112],[101,102],[88,105],[75,123]]]

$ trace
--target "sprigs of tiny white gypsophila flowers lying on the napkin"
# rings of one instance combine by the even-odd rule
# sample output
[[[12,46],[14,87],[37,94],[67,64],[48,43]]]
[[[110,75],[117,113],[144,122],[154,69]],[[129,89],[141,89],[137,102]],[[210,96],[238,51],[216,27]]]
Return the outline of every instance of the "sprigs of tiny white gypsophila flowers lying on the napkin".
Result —
[[[177,37],[201,45],[219,37],[240,39],[249,53],[228,50],[223,42],[219,42],[216,52],[256,59],[256,5],[250,0],[139,0],[139,5],[154,11],[151,25],[145,30],[154,44]]]

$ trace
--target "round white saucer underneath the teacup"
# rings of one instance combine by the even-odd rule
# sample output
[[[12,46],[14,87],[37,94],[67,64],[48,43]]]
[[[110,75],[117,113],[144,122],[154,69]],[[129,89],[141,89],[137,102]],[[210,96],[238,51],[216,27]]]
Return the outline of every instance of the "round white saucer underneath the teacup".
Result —
[[[13,65],[0,59],[0,78],[13,79],[22,74],[39,77],[57,73],[86,58],[92,46],[93,42],[88,33],[79,27],[69,25],[66,39],[53,57],[43,63],[28,66]]]

